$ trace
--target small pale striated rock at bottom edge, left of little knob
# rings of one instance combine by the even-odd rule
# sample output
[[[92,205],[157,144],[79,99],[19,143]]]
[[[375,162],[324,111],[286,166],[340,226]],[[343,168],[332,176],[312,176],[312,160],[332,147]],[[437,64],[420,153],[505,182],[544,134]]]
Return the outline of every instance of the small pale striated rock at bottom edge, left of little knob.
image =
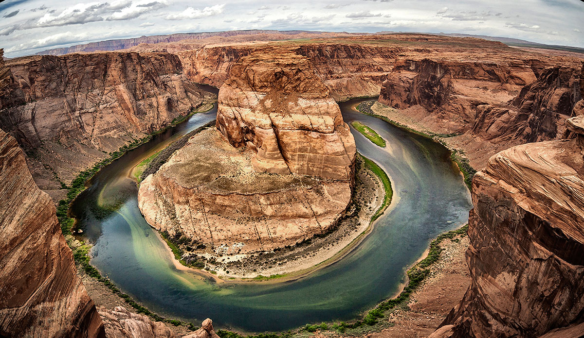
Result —
[[[175,332],[162,322],[134,314],[124,307],[100,309],[107,338],[175,338]]]

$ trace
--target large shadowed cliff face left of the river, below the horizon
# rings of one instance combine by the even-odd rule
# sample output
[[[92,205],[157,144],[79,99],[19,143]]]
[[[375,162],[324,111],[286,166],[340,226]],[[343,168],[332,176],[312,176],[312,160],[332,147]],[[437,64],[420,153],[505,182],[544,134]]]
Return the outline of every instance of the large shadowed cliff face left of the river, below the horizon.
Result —
[[[0,126],[32,157],[41,189],[58,189],[107,152],[169,125],[203,99],[171,54],[98,53],[8,62]]]

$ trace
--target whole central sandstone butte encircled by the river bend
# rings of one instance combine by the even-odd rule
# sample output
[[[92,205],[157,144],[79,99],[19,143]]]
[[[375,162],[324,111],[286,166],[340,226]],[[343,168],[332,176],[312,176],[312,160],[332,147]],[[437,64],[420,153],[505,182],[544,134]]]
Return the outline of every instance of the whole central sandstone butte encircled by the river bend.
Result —
[[[294,245],[349,205],[356,147],[305,57],[273,50],[235,64],[219,91],[217,130],[193,136],[141,182],[151,226],[218,254]]]

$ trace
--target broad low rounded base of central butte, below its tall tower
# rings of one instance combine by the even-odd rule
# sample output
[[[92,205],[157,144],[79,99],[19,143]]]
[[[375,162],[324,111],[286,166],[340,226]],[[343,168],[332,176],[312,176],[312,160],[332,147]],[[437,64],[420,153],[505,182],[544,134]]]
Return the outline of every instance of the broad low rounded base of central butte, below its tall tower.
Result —
[[[148,223],[234,255],[294,245],[332,227],[349,205],[350,181],[255,171],[253,150],[200,132],[140,184]]]

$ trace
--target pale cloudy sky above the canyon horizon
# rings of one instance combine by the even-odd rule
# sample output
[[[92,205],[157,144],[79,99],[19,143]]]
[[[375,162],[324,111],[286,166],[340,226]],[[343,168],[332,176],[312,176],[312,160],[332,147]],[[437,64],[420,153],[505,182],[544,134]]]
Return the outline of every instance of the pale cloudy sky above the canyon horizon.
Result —
[[[584,47],[584,0],[0,2],[6,57],[117,38],[240,29],[465,33]]]

